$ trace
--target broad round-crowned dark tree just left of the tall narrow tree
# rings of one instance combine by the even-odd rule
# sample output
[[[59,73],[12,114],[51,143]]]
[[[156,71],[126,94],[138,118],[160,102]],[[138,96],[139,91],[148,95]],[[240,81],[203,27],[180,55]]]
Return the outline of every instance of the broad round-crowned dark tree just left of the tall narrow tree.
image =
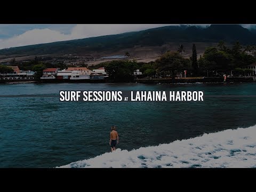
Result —
[[[178,52],[166,52],[161,58],[156,60],[157,69],[160,72],[171,72],[172,78],[175,78],[175,71],[186,69],[189,66],[189,60],[183,58]]]

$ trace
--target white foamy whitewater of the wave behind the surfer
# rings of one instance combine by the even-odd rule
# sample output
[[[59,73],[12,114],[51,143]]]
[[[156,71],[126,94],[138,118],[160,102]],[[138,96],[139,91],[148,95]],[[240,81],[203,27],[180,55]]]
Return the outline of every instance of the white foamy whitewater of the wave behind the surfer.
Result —
[[[256,125],[131,151],[117,149],[60,167],[256,167]]]

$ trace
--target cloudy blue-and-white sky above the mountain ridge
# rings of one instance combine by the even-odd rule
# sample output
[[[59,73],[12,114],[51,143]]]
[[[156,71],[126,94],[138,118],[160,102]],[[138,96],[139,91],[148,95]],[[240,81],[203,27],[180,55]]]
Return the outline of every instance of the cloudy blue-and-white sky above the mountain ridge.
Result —
[[[119,34],[170,25],[177,26],[179,24],[0,24],[0,49]],[[209,24],[201,24],[200,26],[205,27],[209,26]],[[246,28],[252,27],[252,25],[242,26]],[[255,26],[253,25],[253,27]]]

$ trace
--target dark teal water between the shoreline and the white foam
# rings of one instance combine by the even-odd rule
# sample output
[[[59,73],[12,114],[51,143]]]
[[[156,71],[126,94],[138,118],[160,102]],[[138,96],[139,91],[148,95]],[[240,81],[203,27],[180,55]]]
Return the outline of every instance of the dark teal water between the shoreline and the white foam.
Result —
[[[205,98],[60,102],[60,90],[197,90],[204,91]],[[132,150],[256,124],[256,97],[246,97],[256,95],[255,83],[12,84],[0,85],[0,95],[0,167],[55,167],[103,154],[110,150],[111,125],[117,126],[118,148]]]

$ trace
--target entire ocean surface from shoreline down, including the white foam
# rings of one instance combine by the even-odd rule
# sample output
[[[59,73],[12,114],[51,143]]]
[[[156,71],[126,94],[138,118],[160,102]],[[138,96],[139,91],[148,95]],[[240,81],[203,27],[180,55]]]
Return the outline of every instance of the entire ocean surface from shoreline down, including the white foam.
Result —
[[[205,98],[60,102],[60,90],[204,91]],[[253,167],[255,95],[255,83],[0,85],[0,167]],[[111,125],[115,153],[108,153]]]

